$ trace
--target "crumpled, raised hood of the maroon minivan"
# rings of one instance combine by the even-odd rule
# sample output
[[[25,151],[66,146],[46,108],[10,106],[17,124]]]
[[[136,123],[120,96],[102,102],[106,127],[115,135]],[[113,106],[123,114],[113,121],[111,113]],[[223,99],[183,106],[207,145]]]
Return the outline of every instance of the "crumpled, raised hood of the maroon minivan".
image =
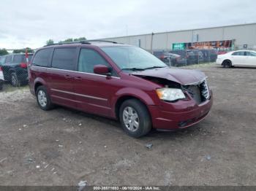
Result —
[[[177,82],[181,85],[189,85],[197,82],[201,82],[206,79],[206,75],[201,71],[190,69],[173,69],[173,68],[159,68],[150,69],[145,71],[133,72],[134,76],[143,77],[157,77],[162,79],[168,79],[173,82]]]

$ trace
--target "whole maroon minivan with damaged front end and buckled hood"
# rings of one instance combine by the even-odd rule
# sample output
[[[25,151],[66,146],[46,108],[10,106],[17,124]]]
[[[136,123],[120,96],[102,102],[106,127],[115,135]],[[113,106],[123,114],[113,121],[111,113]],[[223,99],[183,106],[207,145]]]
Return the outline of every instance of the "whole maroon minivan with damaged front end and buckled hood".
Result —
[[[116,42],[52,44],[34,53],[29,85],[43,110],[55,104],[121,122],[129,136],[187,128],[213,97],[200,71],[169,68],[139,47]]]

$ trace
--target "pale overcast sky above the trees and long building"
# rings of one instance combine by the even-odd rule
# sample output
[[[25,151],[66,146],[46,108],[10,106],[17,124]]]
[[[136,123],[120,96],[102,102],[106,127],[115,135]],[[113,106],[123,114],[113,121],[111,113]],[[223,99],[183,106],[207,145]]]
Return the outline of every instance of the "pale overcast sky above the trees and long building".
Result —
[[[256,22],[255,0],[0,1],[0,48]]]

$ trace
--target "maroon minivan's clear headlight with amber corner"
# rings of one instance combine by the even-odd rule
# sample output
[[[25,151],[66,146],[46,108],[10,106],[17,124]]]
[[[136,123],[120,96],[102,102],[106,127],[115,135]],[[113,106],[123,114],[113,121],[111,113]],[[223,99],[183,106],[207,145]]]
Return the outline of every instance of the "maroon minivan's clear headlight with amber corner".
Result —
[[[179,99],[184,99],[186,96],[181,89],[177,88],[159,88],[156,90],[159,99],[163,101],[176,101]]]

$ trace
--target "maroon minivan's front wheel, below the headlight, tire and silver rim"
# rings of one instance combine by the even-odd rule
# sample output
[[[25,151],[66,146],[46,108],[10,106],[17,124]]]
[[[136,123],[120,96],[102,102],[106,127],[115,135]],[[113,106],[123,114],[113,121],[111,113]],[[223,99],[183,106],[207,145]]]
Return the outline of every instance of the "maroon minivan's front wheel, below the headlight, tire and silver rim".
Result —
[[[134,138],[145,136],[151,130],[148,109],[137,99],[129,99],[121,104],[119,119],[124,132]]]

